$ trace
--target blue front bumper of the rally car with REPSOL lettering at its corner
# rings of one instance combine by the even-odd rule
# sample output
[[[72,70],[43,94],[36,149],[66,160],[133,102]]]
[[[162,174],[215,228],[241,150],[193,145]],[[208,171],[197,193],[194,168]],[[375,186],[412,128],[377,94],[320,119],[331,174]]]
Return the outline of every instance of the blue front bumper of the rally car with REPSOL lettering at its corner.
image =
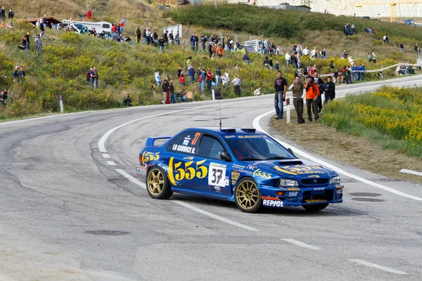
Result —
[[[260,192],[264,207],[289,207],[312,204],[343,202],[343,185],[324,187],[278,188],[261,186]]]

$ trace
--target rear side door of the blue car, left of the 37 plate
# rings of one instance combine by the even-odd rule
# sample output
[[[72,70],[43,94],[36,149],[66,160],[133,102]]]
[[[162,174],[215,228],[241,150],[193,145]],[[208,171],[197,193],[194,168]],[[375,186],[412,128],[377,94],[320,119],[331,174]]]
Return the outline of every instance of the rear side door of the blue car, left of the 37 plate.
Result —
[[[167,175],[175,189],[193,190],[193,178],[200,174],[196,168],[199,136],[200,132],[184,131],[167,145]]]

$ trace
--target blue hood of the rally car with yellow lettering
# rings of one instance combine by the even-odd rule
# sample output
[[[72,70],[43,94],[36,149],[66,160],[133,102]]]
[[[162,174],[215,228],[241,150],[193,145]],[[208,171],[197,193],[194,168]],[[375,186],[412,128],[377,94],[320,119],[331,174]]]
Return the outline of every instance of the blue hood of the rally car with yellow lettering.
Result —
[[[306,163],[301,159],[268,160],[254,163],[258,169],[271,173],[271,177],[286,178],[328,178],[336,176],[335,172],[319,164]]]

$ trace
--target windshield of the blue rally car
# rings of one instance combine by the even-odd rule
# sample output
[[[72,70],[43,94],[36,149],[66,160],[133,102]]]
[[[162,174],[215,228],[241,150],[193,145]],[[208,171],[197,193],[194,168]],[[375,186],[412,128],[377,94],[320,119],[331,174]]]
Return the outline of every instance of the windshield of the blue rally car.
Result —
[[[295,159],[286,148],[266,135],[236,135],[226,138],[226,143],[241,161]]]

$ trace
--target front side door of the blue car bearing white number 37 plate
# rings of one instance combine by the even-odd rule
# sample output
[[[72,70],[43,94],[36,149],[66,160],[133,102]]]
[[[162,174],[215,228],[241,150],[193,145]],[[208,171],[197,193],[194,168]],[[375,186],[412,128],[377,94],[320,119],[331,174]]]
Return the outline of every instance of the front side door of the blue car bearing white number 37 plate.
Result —
[[[201,193],[217,197],[231,196],[230,175],[232,162],[220,158],[220,152],[226,150],[217,136],[204,134],[198,146],[198,162],[207,169],[207,177],[196,178],[194,188]]]

